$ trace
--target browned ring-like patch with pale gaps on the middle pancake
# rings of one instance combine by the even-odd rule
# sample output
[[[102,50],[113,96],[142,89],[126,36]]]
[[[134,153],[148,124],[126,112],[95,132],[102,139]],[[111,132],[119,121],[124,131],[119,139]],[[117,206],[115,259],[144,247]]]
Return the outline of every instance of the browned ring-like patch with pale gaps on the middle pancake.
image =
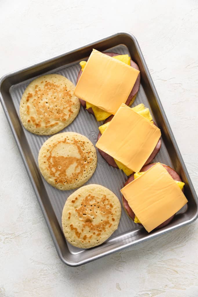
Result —
[[[75,145],[80,157],[52,156],[53,150],[61,143]],[[85,141],[76,140],[75,138],[72,140],[67,140],[65,138],[64,140],[53,144],[53,149],[51,149],[49,157],[47,158],[50,175],[54,177],[56,184],[73,184],[80,178],[80,176],[82,176],[89,166],[89,163],[92,161],[93,159],[86,154]],[[75,168],[72,175],[68,176],[66,171],[71,165],[75,165]]]

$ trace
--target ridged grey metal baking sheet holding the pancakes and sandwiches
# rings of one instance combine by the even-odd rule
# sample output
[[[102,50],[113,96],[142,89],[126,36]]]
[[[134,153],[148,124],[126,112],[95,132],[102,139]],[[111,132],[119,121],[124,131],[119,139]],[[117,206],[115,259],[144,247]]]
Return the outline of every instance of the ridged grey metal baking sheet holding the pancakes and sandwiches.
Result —
[[[146,232],[143,227],[130,220],[122,209],[121,220],[118,230],[102,245],[91,249],[78,249],[66,241],[61,228],[61,214],[67,197],[75,190],[59,191],[50,186],[42,177],[38,168],[38,152],[42,144],[49,136],[34,135],[24,129],[19,118],[19,104],[22,94],[31,80],[48,73],[64,75],[74,84],[80,70],[79,61],[88,58],[93,48],[100,51],[112,51],[119,54],[129,54],[140,67],[141,84],[137,98],[133,106],[144,103],[150,108],[154,121],[161,129],[161,150],[154,159],[173,167],[185,182],[185,195],[189,200],[188,206],[184,207],[175,216],[173,221],[166,227],[151,232]],[[71,266],[78,266],[95,260],[112,252],[159,236],[167,231],[193,222],[198,217],[198,199],[189,174],[180,155],[175,138],[161,106],[155,86],[149,74],[145,60],[135,37],[129,33],[117,33],[110,37],[96,41],[82,48],[64,53],[52,59],[43,61],[33,66],[20,69],[5,75],[0,80],[1,104],[7,116],[18,145],[21,157],[26,166],[29,178],[36,193],[43,215],[47,222],[55,247],[61,260]],[[92,143],[96,143],[98,127],[94,116],[81,107],[79,115],[69,127],[61,132],[75,131],[87,136]],[[119,169],[109,166],[98,153],[98,165],[96,172],[86,184],[101,184],[112,190],[121,200],[120,189],[127,177]]]

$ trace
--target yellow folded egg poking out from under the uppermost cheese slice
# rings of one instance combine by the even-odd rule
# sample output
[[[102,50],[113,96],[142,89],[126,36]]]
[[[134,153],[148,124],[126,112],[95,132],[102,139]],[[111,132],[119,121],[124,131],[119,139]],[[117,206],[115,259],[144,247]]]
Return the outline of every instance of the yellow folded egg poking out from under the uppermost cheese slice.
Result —
[[[118,56],[114,56],[114,59],[117,59],[127,65],[130,65],[130,57],[128,55],[118,55]],[[86,66],[87,62],[86,61],[81,61],[80,62],[80,66],[81,66],[81,70],[83,71],[85,66]],[[133,98],[132,98],[133,99]],[[134,100],[133,100],[134,101]],[[88,108],[92,108],[94,115],[96,117],[97,121],[103,121],[105,119],[107,119],[109,116],[111,116],[111,113],[108,113],[107,111],[89,103],[86,102],[86,109]]]

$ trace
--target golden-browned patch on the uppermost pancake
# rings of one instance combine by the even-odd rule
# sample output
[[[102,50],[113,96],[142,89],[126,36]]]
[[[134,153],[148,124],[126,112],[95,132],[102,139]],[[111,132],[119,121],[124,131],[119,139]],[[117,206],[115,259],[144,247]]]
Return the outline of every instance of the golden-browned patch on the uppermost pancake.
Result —
[[[34,93],[29,93],[27,99],[33,97],[32,104],[37,116],[45,128],[49,128],[57,125],[58,121],[66,121],[71,117],[72,106],[75,104],[72,102],[72,95],[64,84],[59,85],[46,80],[42,86],[35,85]]]

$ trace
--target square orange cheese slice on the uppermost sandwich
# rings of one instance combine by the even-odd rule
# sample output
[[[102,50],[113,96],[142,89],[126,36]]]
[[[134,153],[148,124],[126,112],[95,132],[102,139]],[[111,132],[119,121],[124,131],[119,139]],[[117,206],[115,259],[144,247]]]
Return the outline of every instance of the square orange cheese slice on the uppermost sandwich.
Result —
[[[126,102],[139,73],[126,63],[93,50],[74,94],[115,114],[121,103]]]

